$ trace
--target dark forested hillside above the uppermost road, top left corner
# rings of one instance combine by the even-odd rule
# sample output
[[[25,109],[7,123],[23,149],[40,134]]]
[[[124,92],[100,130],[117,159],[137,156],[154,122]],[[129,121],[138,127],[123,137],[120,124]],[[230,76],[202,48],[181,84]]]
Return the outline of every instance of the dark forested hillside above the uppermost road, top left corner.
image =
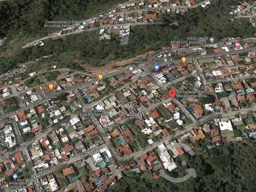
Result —
[[[45,20],[83,20],[125,0],[14,0],[0,2],[0,38],[20,31],[45,35]]]

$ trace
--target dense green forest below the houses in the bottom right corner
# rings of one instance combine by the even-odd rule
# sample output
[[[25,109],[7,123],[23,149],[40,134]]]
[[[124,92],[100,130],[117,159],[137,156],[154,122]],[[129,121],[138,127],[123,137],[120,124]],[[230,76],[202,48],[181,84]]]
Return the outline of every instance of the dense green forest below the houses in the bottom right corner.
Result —
[[[125,175],[110,191],[255,191],[256,167],[252,161],[256,158],[255,147],[255,142],[225,143],[205,153],[177,158],[178,168],[170,176],[182,177],[187,168],[195,168],[195,179],[173,183],[162,177],[142,179],[139,173],[134,173],[131,177]],[[184,159],[186,167],[180,165]]]

